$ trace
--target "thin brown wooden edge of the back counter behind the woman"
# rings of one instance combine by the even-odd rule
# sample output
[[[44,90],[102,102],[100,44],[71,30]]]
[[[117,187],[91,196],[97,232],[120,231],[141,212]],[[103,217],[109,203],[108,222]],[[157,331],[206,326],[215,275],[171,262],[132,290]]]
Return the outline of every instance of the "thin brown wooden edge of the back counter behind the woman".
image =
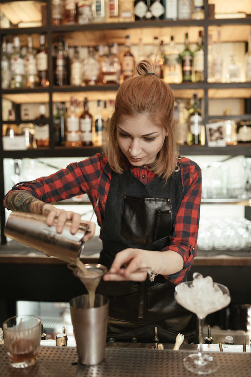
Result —
[[[97,257],[86,257],[82,259],[84,263],[97,263]],[[44,264],[44,265],[64,265],[65,262],[55,258],[43,255],[18,255],[18,254],[0,254],[0,263],[17,263],[17,264]],[[196,266],[251,266],[251,257],[231,257],[231,256],[213,256],[213,257],[195,257]]]

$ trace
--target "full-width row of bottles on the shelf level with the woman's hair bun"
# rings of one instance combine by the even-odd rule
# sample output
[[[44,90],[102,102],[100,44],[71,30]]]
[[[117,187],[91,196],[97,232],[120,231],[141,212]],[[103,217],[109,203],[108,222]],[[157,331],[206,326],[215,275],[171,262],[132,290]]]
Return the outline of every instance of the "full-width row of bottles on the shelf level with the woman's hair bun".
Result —
[[[3,37],[1,78],[2,88],[34,88],[49,86],[48,55],[45,35],[40,35],[40,48],[34,49],[32,37],[27,38],[27,46],[20,47],[19,37],[8,42]],[[183,47],[184,46],[184,47]],[[156,62],[155,75],[166,83],[203,82],[204,77],[204,38],[199,31],[197,47],[190,49],[189,35],[185,34],[182,50],[175,46],[175,37],[170,36],[170,43],[164,44],[158,37],[153,38],[152,49],[145,53],[142,39],[138,41],[137,55],[132,53],[130,35],[125,37],[121,52],[118,44],[91,46],[85,55],[82,47],[75,45],[68,48],[67,41],[58,36],[53,44],[53,84],[58,86],[71,84],[85,86],[95,84],[119,84],[135,74],[135,64],[142,59]],[[208,82],[251,81],[251,29],[249,31],[248,52],[242,64],[236,55],[228,58],[221,53],[221,31],[212,44],[212,35],[208,38]]]

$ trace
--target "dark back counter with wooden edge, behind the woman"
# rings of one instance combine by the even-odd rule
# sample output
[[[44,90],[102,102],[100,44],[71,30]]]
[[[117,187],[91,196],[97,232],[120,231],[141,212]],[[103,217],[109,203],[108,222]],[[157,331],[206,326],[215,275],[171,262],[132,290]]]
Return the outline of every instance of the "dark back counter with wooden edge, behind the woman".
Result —
[[[85,244],[84,263],[96,263],[102,243],[93,237]],[[238,256],[214,255],[215,251],[198,251],[195,264],[188,273],[210,275],[215,282],[230,290],[231,304],[251,304],[251,256],[249,251],[235,252]],[[17,300],[69,302],[84,294],[85,287],[70,271],[65,262],[16,241],[0,247],[0,323],[15,315]]]

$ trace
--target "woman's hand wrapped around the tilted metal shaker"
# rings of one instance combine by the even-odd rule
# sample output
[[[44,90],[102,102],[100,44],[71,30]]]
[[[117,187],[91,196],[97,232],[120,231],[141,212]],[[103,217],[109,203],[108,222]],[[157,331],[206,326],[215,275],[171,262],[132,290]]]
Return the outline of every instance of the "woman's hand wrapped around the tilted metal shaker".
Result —
[[[58,217],[58,222],[56,225],[57,233],[62,233],[66,220],[71,220],[71,227],[70,227],[71,234],[77,233],[78,227],[81,223],[81,215],[79,215],[79,213],[60,210],[54,207],[52,204],[44,204],[43,215],[47,216],[46,224],[49,225],[49,227],[52,226],[55,217]],[[82,221],[82,223],[83,222],[84,224],[88,226],[87,233],[85,234],[83,238],[83,241],[86,242],[94,236],[96,224],[90,221]]]

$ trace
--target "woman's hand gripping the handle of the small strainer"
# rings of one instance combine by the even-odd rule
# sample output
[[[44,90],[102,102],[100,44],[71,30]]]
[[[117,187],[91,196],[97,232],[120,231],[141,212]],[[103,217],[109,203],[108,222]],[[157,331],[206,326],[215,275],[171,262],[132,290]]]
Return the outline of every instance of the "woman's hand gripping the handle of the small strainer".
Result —
[[[120,251],[116,254],[116,257],[111,265],[110,271],[105,274],[103,280],[132,280],[132,281],[144,281],[147,277],[146,271],[140,271],[139,269],[154,268],[156,259],[156,251],[141,250],[128,248]],[[154,265],[152,265],[154,264]],[[123,265],[126,268],[121,268]]]

